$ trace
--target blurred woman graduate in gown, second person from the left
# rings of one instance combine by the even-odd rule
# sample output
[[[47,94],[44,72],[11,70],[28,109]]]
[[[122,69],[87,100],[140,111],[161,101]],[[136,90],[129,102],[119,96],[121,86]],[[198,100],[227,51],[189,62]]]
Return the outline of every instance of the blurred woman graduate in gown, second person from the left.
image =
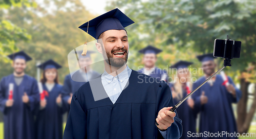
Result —
[[[36,113],[36,138],[60,139],[62,138],[62,108],[60,91],[62,85],[58,84],[57,69],[61,66],[53,60],[48,60],[39,68],[44,69],[41,79],[40,105]],[[40,88],[40,86],[39,86]]]

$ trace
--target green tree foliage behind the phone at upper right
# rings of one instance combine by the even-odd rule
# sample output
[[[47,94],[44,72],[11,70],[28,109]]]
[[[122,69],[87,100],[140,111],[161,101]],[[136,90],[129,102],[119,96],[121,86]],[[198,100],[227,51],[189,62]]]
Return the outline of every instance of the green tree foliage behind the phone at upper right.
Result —
[[[123,0],[113,2],[108,9],[126,9],[125,13],[139,24],[134,29],[148,34],[147,39],[143,39],[146,43],[161,39],[158,45],[177,44],[178,50],[189,45],[195,52],[209,53],[213,52],[216,38],[225,39],[229,35],[230,39],[240,40],[241,58],[233,59],[230,69],[243,71],[256,58],[255,6],[255,1],[235,0]]]

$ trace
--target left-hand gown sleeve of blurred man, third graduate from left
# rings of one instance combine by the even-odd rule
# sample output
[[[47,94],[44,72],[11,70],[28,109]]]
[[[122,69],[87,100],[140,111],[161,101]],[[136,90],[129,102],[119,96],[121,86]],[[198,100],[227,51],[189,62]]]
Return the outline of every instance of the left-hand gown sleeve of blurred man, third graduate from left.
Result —
[[[70,105],[68,104],[68,100],[70,98],[71,90],[71,83],[70,83],[70,75],[67,75],[64,80],[63,87],[61,89],[61,96],[62,96],[62,107],[65,109],[69,109]]]

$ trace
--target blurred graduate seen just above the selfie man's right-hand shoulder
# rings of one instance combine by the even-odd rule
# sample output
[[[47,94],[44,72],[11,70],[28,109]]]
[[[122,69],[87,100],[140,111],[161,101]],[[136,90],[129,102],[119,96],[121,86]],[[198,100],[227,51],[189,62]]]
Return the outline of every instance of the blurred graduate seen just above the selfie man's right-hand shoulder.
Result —
[[[162,50],[148,45],[146,48],[140,50],[139,52],[144,54],[142,59],[144,67],[139,69],[138,72],[167,82],[167,72],[156,67],[157,54],[161,53]]]

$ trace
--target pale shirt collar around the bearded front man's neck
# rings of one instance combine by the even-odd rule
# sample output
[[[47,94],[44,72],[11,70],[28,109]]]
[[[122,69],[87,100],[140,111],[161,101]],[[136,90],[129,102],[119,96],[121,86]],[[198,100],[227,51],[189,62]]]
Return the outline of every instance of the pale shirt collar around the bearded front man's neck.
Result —
[[[117,78],[119,82],[123,82],[126,78],[130,77],[131,73],[132,73],[132,69],[129,68],[129,66],[127,65],[126,68],[115,77],[108,74],[105,70],[104,70],[104,73],[102,74],[102,76],[103,76],[103,78],[105,78],[105,81],[108,83],[111,83],[114,78]]]

